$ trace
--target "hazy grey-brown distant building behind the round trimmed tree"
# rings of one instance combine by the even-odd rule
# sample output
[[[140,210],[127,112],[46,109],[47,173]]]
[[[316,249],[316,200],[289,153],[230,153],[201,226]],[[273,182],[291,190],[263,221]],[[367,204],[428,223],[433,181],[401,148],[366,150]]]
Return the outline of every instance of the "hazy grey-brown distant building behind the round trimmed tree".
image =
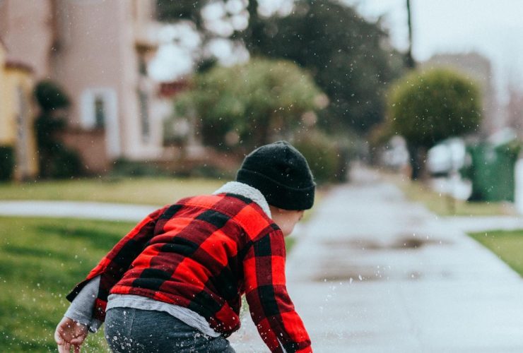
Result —
[[[490,61],[481,54],[437,54],[421,64],[421,68],[449,67],[469,76],[481,85],[481,101],[483,104],[483,120],[481,131],[483,136],[490,136],[505,126],[504,115],[498,109],[492,82]]]

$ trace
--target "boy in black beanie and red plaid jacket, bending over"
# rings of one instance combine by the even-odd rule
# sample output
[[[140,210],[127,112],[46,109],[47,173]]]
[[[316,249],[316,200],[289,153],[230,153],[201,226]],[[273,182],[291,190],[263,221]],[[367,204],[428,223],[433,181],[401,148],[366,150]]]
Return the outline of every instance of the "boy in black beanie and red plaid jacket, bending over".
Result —
[[[251,152],[213,195],[151,213],[67,296],[54,337],[80,349],[105,320],[114,352],[234,352],[242,294],[271,352],[312,352],[288,297],[283,237],[312,207],[315,182],[285,141]]]

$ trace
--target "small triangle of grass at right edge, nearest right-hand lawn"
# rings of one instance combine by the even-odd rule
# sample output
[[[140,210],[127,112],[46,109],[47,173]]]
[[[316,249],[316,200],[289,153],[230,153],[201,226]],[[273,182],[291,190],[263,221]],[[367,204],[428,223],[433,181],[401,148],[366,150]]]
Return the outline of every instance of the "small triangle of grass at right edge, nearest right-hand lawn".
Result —
[[[493,230],[469,235],[493,251],[523,277],[523,230]]]

